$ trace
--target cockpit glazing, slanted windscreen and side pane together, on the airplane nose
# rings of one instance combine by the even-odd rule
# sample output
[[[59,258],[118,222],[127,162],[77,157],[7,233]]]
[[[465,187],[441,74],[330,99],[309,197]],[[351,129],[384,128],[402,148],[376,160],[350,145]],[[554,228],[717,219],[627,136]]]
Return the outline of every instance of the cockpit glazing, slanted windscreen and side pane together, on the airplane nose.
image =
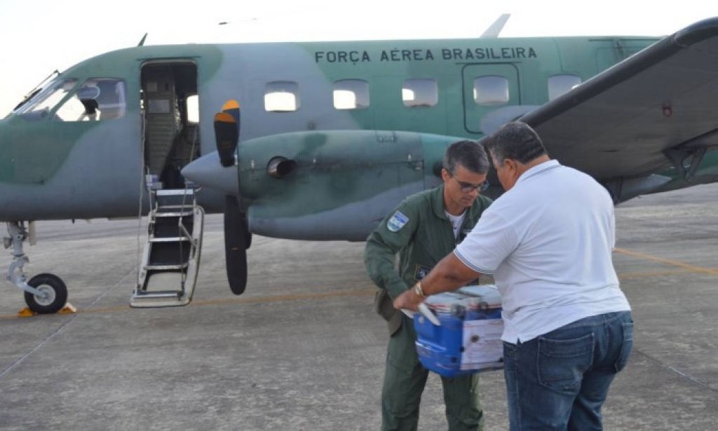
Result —
[[[112,120],[125,115],[126,90],[123,80],[92,78],[83,82],[70,98],[65,99],[76,83],[74,79],[53,83],[19,108],[17,114],[28,120],[41,120],[54,110],[52,120],[73,122]],[[57,106],[58,103],[62,105]]]

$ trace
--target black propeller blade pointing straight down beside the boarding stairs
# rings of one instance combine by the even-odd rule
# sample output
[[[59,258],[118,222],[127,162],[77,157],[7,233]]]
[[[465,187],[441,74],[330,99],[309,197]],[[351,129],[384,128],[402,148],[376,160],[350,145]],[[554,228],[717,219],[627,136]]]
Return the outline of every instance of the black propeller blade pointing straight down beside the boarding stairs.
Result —
[[[229,288],[235,295],[241,295],[247,287],[247,244],[246,222],[235,196],[225,196],[225,260]]]

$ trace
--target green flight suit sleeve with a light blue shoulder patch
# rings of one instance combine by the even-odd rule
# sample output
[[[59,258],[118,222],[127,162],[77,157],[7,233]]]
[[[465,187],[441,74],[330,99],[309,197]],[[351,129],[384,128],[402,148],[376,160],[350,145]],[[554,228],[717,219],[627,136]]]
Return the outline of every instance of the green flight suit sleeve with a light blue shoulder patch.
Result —
[[[396,214],[399,218],[406,217],[406,224],[396,232],[388,228],[393,222],[396,229]],[[393,220],[392,220],[393,219]],[[396,269],[396,255],[407,247],[414,238],[414,232],[419,225],[419,214],[407,202],[402,202],[395,211],[389,213],[379,223],[366,240],[364,249],[364,265],[366,272],[379,288],[386,289],[391,298],[396,298],[410,286],[401,278]]]

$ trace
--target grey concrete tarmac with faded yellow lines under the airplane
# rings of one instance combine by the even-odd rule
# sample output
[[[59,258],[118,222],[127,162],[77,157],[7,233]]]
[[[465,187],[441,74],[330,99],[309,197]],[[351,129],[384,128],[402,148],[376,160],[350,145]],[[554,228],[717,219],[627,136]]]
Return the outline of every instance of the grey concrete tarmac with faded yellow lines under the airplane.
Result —
[[[718,184],[616,208],[615,266],[635,346],[607,430],[718,425]],[[363,243],[254,237],[246,293],[225,281],[222,219],[205,221],[194,300],[130,308],[137,220],[41,222],[29,275],[55,273],[78,313],[22,318],[0,288],[1,430],[378,430],[385,323]],[[9,252],[2,262],[9,265]],[[508,428],[501,371],[482,374],[486,430]],[[429,378],[420,430],[446,429]]]

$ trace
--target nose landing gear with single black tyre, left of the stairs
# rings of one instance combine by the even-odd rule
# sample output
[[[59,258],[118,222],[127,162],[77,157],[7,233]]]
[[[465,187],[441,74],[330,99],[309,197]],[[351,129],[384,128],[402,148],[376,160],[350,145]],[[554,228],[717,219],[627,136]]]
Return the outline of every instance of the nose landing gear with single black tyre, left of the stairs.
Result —
[[[60,277],[53,274],[38,274],[26,281],[24,265],[29,262],[22,251],[22,243],[29,234],[24,222],[8,222],[10,237],[3,238],[5,248],[12,247],[13,260],[7,271],[7,279],[25,292],[25,303],[30,311],[38,314],[52,314],[60,311],[67,303],[67,286]]]

